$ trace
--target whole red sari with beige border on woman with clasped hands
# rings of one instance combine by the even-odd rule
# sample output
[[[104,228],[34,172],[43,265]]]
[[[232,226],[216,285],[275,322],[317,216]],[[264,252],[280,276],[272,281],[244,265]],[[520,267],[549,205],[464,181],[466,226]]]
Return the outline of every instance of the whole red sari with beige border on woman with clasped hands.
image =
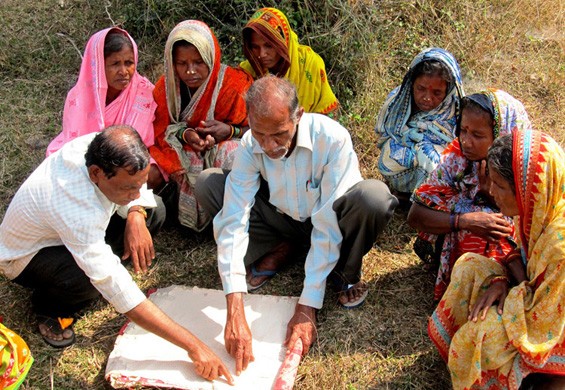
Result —
[[[210,70],[208,78],[186,107],[181,107],[182,81],[176,75],[173,64],[173,45],[181,40],[198,49]],[[173,175],[179,186],[180,223],[196,231],[204,229],[211,220],[194,196],[196,177],[206,168],[231,169],[239,142],[226,140],[205,153],[196,153],[189,145],[181,144],[176,134],[181,128],[199,127],[201,121],[212,119],[233,126],[247,126],[243,96],[253,80],[245,72],[221,64],[220,60],[216,36],[205,23],[196,20],[181,22],[167,39],[165,74],[157,81],[154,92],[157,102],[155,145],[149,148],[149,152],[164,175],[167,178]]]

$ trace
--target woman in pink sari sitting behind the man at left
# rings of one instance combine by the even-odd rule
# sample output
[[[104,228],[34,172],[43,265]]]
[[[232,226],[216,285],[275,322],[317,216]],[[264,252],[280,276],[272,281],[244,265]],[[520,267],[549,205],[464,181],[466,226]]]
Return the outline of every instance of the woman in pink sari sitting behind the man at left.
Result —
[[[63,131],[47,147],[47,156],[81,135],[117,124],[132,126],[147,147],[153,145],[154,86],[136,67],[137,45],[125,30],[112,27],[90,37],[78,81],[67,94]],[[151,169],[158,171],[155,165]]]

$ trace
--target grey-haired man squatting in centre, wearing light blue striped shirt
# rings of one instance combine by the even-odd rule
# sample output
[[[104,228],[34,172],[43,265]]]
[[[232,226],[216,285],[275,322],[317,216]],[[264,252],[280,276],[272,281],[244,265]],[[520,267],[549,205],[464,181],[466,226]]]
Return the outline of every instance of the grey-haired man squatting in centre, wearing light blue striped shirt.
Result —
[[[289,248],[306,245],[304,287],[285,344],[292,349],[300,338],[307,353],[326,280],[344,307],[363,302],[362,258],[398,204],[384,183],[362,179],[347,130],[324,115],[304,113],[288,81],[263,77],[246,102],[251,131],[231,172],[206,170],[196,183],[198,201],[217,214],[214,234],[228,309],[224,337],[237,375],[254,359],[243,293],[289,261]]]

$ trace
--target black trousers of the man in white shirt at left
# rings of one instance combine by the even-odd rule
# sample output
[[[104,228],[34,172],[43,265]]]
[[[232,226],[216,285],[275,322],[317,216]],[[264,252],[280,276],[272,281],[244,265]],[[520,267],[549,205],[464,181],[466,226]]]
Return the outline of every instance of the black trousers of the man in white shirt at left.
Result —
[[[151,234],[159,231],[166,217],[163,202],[157,196],[155,199],[157,208],[147,210]],[[118,256],[124,249],[125,224],[122,217],[114,215],[106,229],[106,243]],[[100,294],[64,245],[41,249],[14,282],[31,288],[33,310],[49,317],[72,317]]]

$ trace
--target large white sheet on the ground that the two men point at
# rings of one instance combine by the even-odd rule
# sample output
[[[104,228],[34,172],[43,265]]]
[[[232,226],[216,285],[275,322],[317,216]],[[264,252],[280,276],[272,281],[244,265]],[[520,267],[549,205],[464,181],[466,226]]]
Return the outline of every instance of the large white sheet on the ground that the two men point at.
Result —
[[[270,389],[285,357],[282,345],[296,297],[246,295],[245,316],[253,335],[255,361],[239,377],[235,361],[224,347],[226,299],[222,291],[171,286],[149,299],[195,334],[227,365],[235,386],[222,377],[214,382],[194,371],[186,351],[130,322],[118,336],[106,365],[114,388],[146,385],[176,389]]]

